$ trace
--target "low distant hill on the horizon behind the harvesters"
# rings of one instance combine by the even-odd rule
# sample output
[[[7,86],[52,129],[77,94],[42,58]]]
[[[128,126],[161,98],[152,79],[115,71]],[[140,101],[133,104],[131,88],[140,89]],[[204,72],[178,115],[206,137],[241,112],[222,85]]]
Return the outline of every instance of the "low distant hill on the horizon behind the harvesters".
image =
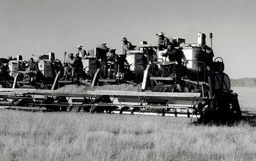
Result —
[[[231,86],[256,87],[256,78],[230,79]]]

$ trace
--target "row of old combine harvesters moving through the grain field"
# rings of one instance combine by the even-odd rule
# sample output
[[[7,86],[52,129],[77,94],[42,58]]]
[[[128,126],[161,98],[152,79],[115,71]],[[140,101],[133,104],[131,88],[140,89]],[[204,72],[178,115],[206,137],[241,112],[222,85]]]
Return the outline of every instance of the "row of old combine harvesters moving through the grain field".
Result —
[[[167,61],[163,57],[166,49],[141,41],[136,50],[120,55],[129,62],[126,72],[121,72],[119,65],[113,68],[112,63],[100,62],[101,49],[96,47],[93,54],[82,60],[84,74],[74,74],[70,80],[60,80],[63,69],[55,69],[54,53],[50,53],[38,62],[45,79],[36,84],[37,89],[24,89],[32,84],[32,79],[29,71],[18,70],[23,63],[18,56],[9,62],[12,87],[1,89],[4,93],[0,105],[46,111],[79,112],[83,108],[91,113],[186,116],[197,118],[198,123],[234,123],[242,115],[238,95],[231,90],[230,78],[224,73],[223,60],[213,59],[205,34],[198,33],[197,38],[197,43],[189,44],[185,39],[172,39],[181,54],[180,62]],[[105,67],[109,68],[108,74],[102,77]],[[56,90],[84,82],[90,86],[86,92]],[[140,85],[141,90],[93,90],[96,85],[121,83]]]

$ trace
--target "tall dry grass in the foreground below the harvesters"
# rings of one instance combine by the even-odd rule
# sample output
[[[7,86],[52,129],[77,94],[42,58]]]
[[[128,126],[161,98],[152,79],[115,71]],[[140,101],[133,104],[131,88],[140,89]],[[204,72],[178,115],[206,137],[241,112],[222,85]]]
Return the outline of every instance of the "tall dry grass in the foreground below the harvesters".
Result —
[[[255,160],[255,128],[160,116],[0,111],[0,160]],[[172,122],[175,121],[175,122]]]

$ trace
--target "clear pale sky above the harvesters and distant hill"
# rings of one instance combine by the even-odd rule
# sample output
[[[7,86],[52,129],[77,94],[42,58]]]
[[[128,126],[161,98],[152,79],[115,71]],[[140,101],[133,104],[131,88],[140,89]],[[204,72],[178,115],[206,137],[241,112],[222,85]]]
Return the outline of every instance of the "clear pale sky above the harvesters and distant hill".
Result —
[[[212,48],[232,79],[256,77],[255,0],[2,0],[0,57],[77,52],[100,43],[121,54],[122,38],[133,45],[156,45],[156,33],[196,43],[199,32],[213,33]]]

